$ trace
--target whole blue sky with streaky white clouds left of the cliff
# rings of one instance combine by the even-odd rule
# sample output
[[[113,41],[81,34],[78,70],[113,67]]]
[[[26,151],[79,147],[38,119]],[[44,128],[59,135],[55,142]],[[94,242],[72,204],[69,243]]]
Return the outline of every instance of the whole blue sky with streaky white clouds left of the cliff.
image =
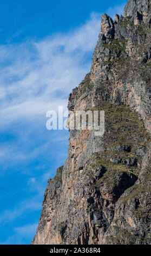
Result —
[[[89,72],[102,13],[126,1],[6,0],[0,15],[0,244],[29,244],[47,180],[67,158],[68,131],[46,112],[67,108]]]

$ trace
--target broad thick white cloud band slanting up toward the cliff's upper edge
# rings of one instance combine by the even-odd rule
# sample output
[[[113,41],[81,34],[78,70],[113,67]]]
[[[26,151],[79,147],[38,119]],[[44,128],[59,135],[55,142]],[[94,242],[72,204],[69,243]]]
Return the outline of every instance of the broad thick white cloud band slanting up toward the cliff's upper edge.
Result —
[[[2,128],[67,106],[69,92],[90,68],[87,54],[94,50],[100,30],[96,16],[68,34],[0,46]]]

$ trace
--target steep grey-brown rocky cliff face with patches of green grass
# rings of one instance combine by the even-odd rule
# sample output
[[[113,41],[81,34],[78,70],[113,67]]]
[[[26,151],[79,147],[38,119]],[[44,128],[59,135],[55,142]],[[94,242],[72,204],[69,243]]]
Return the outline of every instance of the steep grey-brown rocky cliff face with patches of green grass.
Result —
[[[69,110],[104,110],[104,136],[70,130],[33,244],[150,244],[151,1],[103,14],[90,73]],[[70,118],[69,122],[70,123]]]

